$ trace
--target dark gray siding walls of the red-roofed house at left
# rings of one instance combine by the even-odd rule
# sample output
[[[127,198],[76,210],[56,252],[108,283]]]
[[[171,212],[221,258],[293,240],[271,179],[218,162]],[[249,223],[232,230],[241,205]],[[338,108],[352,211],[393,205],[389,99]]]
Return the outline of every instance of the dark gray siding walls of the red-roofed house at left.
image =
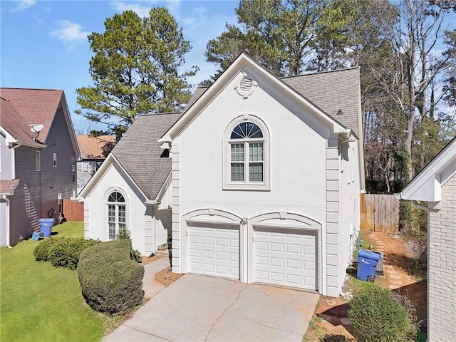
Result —
[[[59,193],[62,199],[70,198],[73,190],[76,193],[72,173],[76,155],[61,108],[57,110],[46,145],[41,149],[41,172],[35,171],[36,148],[21,146],[15,150],[16,179],[20,182],[11,197],[11,245],[31,237],[33,229],[39,228],[41,217],[49,217],[53,212],[52,217],[58,219]],[[56,167],[53,167],[53,153],[57,153]]]

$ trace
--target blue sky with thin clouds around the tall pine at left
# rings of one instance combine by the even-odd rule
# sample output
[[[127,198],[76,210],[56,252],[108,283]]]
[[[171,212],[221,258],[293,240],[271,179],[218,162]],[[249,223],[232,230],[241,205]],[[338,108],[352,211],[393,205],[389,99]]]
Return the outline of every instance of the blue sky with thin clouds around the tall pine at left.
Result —
[[[199,66],[191,84],[209,78],[217,66],[205,62],[209,39],[234,24],[239,1],[0,1],[0,86],[65,91],[75,130],[87,133],[93,123],[74,114],[76,88],[91,86],[88,73],[93,56],[88,34],[103,33],[104,22],[128,9],[141,17],[152,7],[165,6],[183,27],[193,48],[187,66]]]

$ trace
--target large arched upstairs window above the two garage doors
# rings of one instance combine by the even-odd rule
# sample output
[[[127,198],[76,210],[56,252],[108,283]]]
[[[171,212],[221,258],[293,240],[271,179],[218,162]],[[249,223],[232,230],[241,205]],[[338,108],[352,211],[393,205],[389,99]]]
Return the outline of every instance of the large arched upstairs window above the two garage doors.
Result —
[[[255,120],[256,119],[256,120]],[[225,133],[224,188],[269,190],[269,133],[253,115],[233,120]]]

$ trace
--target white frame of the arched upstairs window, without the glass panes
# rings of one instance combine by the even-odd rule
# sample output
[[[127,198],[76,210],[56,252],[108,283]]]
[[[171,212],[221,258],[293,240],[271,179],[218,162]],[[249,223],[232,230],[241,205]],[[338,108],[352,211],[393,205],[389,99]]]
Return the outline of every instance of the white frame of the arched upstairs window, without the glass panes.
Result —
[[[240,123],[251,122],[257,125],[263,133],[262,138],[244,138],[244,139],[232,139],[231,134],[234,128]],[[249,180],[249,144],[261,143],[263,145],[263,181],[252,181]],[[234,181],[232,180],[232,160],[231,160],[231,149],[233,144],[244,144],[244,180]],[[270,182],[270,138],[269,130],[263,120],[258,118],[256,115],[244,114],[234,118],[224,132],[223,138],[223,190],[258,190],[258,191],[269,191],[271,190]]]

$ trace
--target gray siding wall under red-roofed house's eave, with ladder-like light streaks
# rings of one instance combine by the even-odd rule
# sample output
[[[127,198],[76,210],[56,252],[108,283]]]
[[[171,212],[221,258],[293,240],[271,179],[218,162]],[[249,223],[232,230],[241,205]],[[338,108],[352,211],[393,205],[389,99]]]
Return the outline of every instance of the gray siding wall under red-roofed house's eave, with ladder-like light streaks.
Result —
[[[31,237],[33,228],[38,228],[41,217],[41,172],[35,171],[35,151],[32,147],[17,147],[15,150],[16,179],[19,185],[10,197],[10,244]]]

